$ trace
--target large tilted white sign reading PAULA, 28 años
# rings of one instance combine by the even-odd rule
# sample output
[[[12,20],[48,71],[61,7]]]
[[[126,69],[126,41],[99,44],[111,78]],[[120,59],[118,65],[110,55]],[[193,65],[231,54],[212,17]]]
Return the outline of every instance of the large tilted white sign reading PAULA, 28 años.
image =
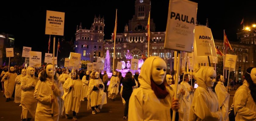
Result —
[[[191,52],[196,18],[197,3],[188,0],[170,0],[164,47]]]

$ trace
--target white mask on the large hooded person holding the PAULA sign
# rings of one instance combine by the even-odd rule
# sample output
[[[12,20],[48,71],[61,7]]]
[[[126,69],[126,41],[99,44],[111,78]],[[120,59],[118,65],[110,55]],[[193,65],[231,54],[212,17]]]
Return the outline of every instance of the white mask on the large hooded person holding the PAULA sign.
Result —
[[[158,85],[164,82],[166,74],[166,64],[162,58],[156,58],[152,63],[151,76]]]

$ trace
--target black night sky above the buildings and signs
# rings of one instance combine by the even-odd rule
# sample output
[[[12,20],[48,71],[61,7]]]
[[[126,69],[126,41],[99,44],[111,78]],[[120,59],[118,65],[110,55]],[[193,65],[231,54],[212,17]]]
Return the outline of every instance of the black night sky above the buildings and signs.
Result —
[[[47,51],[49,35],[45,35],[46,10],[65,12],[64,36],[66,41],[75,38],[76,25],[82,22],[83,28],[90,29],[94,15],[105,17],[105,37],[110,39],[114,29],[115,9],[118,9],[117,32],[123,32],[124,26],[134,15],[135,0],[94,0],[94,1],[43,1],[27,3],[5,0],[1,4],[0,33],[15,36],[15,46],[32,47],[32,51]],[[193,0],[198,3],[197,21],[205,25],[209,20],[214,39],[223,39],[226,30],[229,41],[236,41],[236,31],[244,17],[245,25],[256,23],[256,2]],[[34,5],[30,5],[34,4]],[[169,0],[151,1],[151,18],[156,31],[165,31]],[[42,7],[43,6],[43,7]],[[7,7],[7,8],[6,8]],[[60,36],[57,36],[60,38]],[[40,43],[40,44],[35,44]]]

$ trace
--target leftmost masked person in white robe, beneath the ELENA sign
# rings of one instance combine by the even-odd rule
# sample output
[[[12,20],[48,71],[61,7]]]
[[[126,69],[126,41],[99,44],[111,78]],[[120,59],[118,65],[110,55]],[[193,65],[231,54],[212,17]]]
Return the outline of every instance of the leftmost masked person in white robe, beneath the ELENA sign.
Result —
[[[14,67],[10,67],[9,72],[5,73],[1,81],[4,81],[6,102],[11,100],[12,93],[15,87],[15,79],[18,75],[15,73]]]

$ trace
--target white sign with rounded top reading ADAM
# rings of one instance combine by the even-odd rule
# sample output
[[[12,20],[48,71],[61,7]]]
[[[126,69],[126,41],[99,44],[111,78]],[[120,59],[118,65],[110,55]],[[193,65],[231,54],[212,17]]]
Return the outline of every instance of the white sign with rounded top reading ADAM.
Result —
[[[215,44],[210,28],[196,26],[194,41],[194,57],[196,63],[218,63],[218,57],[215,50]]]

